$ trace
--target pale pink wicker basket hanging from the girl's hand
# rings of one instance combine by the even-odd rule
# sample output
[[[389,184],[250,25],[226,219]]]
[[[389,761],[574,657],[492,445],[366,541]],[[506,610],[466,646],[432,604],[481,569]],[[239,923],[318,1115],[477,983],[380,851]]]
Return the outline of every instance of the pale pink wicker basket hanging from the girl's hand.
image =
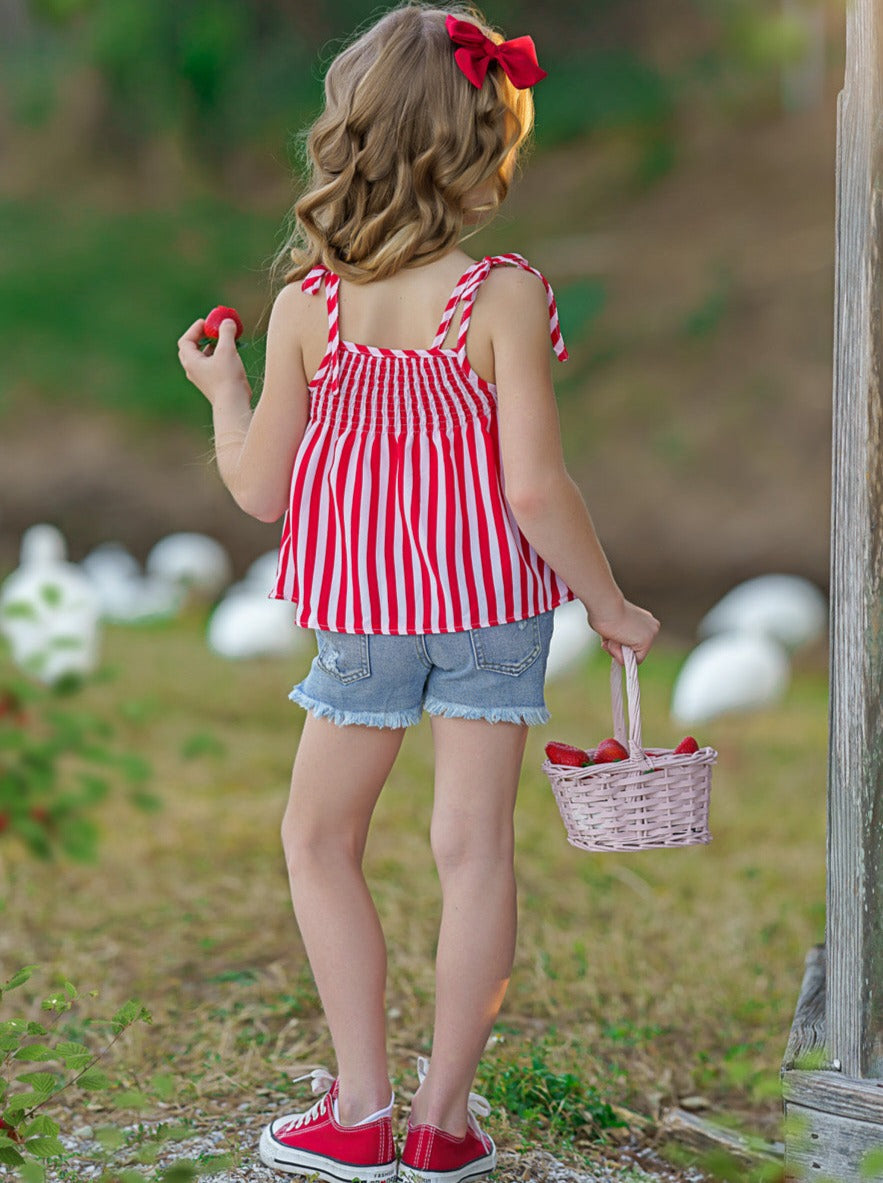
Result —
[[[642,746],[638,664],[623,647],[629,696],[629,759],[569,768],[546,761],[567,840],[581,851],[655,851],[711,841],[708,804],[714,748],[675,755]],[[623,673],[611,668],[613,732],[625,746]],[[594,749],[588,749],[594,755]]]

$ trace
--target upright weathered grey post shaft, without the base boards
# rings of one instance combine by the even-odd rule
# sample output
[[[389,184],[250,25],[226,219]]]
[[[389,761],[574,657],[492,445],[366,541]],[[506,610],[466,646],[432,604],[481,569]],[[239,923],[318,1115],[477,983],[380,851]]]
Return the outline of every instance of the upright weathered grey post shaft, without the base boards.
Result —
[[[846,13],[838,102],[825,1035],[883,1075],[883,0]]]

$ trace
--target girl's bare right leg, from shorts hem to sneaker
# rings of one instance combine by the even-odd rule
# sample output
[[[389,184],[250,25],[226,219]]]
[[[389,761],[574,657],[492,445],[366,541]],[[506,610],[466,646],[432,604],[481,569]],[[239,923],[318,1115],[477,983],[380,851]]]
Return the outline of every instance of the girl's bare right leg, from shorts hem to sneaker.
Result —
[[[443,907],[432,1062],[411,1120],[462,1137],[469,1091],[515,956],[513,815],[527,728],[436,717],[432,731],[432,849]]]

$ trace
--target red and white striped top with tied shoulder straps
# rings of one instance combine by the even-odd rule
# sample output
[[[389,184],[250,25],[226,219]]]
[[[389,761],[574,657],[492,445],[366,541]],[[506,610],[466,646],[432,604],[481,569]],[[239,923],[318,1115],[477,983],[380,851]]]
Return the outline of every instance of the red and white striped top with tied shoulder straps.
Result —
[[[310,382],[271,597],[305,628],[456,633],[524,620],[574,599],[522,535],[503,492],[496,390],[469,364],[472,305],[491,267],[542,279],[552,344],[567,357],[555,298],[520,254],[479,259],[462,276],[428,349],[341,341],[340,278],[324,284],[328,348]],[[444,340],[463,304],[456,349]]]

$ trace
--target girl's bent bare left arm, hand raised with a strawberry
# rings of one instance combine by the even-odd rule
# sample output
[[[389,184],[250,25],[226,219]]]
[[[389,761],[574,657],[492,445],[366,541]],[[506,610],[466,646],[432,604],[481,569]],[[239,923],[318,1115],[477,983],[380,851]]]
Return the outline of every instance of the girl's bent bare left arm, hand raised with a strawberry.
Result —
[[[218,471],[237,504],[262,522],[275,522],[288,505],[295,454],[309,414],[309,392],[301,348],[310,297],[289,286],[279,292],[266,336],[264,387],[251,409],[251,387],[225,321],[212,353],[201,353],[202,321],[178,342],[187,377],[212,405]]]

